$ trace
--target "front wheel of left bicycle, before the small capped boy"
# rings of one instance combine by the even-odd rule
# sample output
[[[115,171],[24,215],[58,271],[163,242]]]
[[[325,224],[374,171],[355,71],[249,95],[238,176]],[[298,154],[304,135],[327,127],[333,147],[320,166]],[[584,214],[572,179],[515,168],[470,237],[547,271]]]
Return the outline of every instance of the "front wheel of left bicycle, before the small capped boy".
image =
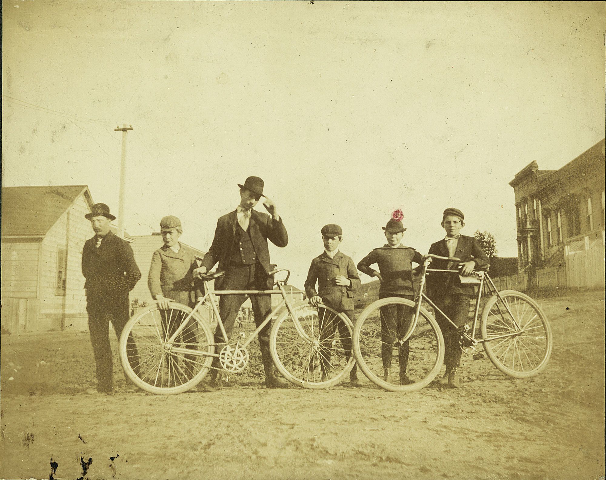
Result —
[[[301,325],[299,333],[290,312],[284,310],[273,323],[270,350],[279,372],[304,388],[336,385],[353,368],[350,319],[325,306],[309,302],[293,306]]]

